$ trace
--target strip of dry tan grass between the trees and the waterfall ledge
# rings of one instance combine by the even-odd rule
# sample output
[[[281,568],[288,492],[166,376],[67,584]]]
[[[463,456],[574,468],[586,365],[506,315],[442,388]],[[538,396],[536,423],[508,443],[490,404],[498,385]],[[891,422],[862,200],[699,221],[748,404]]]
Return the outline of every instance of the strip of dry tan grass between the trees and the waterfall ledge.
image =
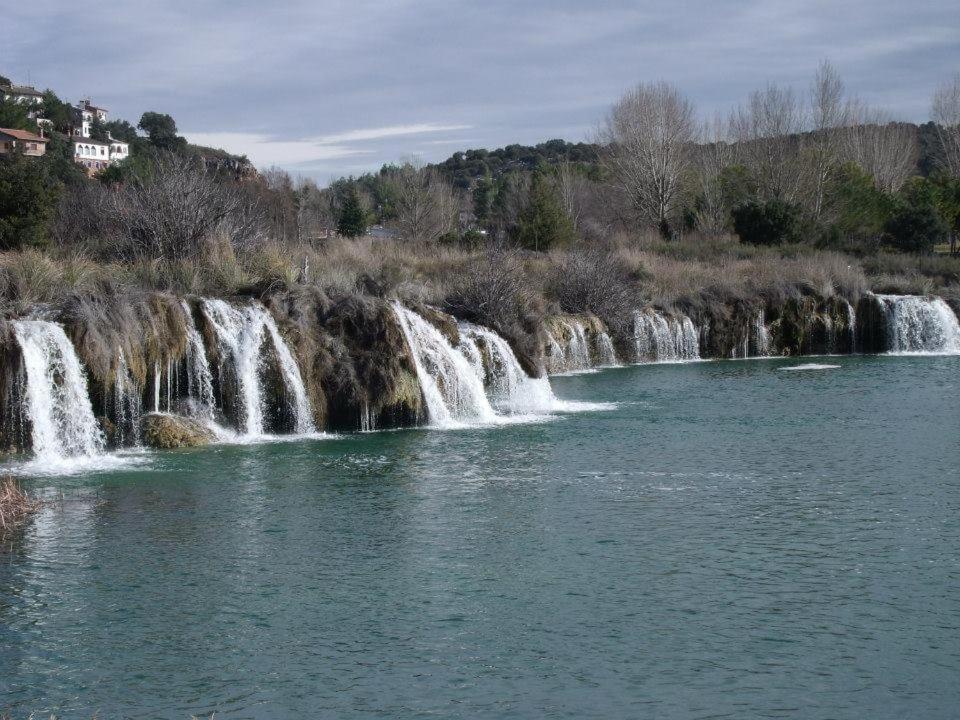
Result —
[[[593,272],[596,263],[583,262],[591,253],[611,257],[619,279],[608,281],[611,268],[606,268],[598,276],[607,280],[589,301],[573,302],[562,269],[576,270],[583,285],[591,273],[598,274]],[[856,259],[805,246],[758,248],[728,236],[692,234],[665,241],[656,233],[621,233],[599,246],[550,254],[370,237],[334,238],[317,246],[237,247],[218,236],[204,253],[176,262],[97,263],[76,252],[36,250],[0,254],[0,303],[8,314],[22,314],[84,295],[146,290],[179,296],[266,296],[306,285],[331,298],[359,293],[442,305],[460,294],[471,274],[496,254],[515,258],[526,278],[525,289],[538,296],[538,304],[589,305],[598,314],[611,304],[604,302],[603,292],[623,295],[623,282],[629,283],[628,294],[638,303],[684,309],[810,295],[855,301],[869,290],[949,295],[960,285],[960,258],[882,253]],[[581,291],[574,294],[582,296]],[[618,303],[613,298],[612,304]]]

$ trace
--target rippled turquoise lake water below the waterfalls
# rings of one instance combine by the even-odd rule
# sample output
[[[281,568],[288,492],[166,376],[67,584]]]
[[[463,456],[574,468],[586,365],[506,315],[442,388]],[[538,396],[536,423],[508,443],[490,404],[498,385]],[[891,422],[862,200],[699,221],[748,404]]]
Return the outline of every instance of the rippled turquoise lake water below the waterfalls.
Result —
[[[958,378],[632,367],[554,380],[605,412],[34,479],[0,711],[956,717]]]

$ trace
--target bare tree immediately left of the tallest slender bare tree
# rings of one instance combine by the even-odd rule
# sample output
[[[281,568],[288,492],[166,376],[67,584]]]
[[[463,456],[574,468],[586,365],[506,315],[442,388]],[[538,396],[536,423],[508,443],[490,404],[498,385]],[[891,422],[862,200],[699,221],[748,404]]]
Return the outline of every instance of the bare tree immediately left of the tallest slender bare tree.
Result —
[[[796,202],[806,185],[800,133],[803,108],[789,88],[768,85],[734,110],[730,127],[759,197]]]

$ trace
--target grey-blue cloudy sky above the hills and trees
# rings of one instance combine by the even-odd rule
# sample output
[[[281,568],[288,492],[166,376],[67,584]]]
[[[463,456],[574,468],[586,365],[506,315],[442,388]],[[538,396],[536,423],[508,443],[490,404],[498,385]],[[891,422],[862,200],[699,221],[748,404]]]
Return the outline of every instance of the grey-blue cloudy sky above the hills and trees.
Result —
[[[457,150],[590,140],[642,81],[704,117],[829,59],[924,121],[960,71],[957,0],[32,0],[4,7],[0,75],[320,182]]]

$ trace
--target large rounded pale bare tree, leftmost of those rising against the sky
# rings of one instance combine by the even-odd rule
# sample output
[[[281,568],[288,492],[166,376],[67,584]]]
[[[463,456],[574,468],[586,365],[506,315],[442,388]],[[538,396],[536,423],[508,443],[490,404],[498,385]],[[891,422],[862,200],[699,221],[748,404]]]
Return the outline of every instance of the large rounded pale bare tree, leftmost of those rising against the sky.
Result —
[[[601,131],[613,177],[640,219],[663,232],[678,213],[695,136],[693,104],[665,82],[641,83],[620,98]]]

